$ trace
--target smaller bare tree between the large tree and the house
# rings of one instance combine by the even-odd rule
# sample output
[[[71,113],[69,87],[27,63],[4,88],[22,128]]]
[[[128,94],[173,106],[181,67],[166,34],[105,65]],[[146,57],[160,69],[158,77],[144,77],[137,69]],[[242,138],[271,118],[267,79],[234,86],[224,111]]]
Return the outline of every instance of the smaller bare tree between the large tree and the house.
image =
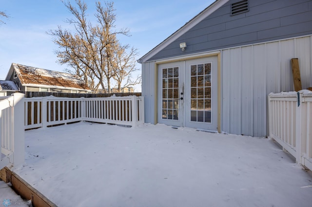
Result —
[[[113,78],[117,82],[119,93],[125,87],[141,83],[141,75],[137,75],[136,79],[132,79],[132,73],[138,70],[136,68],[137,49],[131,48],[129,52],[127,52],[127,49],[129,49],[129,45],[120,46],[118,44],[114,52],[114,61],[112,61]]]

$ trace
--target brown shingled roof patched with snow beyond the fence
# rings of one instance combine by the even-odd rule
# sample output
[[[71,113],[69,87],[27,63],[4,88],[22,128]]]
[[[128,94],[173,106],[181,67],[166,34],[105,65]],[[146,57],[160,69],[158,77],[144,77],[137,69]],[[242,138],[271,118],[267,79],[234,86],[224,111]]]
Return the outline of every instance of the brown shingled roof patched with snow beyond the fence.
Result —
[[[90,90],[90,88],[86,86],[77,75],[47,69],[39,69],[16,63],[12,63],[12,66],[23,86],[45,85]]]

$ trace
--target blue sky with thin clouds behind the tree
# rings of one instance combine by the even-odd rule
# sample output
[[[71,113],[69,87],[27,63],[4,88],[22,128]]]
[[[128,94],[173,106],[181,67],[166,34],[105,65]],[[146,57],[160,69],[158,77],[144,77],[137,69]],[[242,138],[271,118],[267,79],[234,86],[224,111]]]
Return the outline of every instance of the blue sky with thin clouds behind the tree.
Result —
[[[137,59],[172,35],[215,0],[115,0],[116,27],[130,29],[130,37],[118,36],[122,44],[138,49]],[[71,0],[75,3],[74,0]],[[85,0],[88,17],[94,19],[95,0]],[[101,1],[104,3],[105,1]],[[0,11],[8,19],[0,25],[0,80],[5,79],[11,63],[63,71],[56,63],[49,30],[70,28],[64,21],[72,18],[60,0],[0,0]],[[137,64],[137,68],[141,68]]]

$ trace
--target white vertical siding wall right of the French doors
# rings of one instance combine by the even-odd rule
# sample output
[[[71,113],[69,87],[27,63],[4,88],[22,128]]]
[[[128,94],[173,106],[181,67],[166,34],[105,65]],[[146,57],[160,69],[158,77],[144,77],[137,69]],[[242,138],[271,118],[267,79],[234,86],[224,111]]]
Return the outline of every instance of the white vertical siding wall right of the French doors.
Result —
[[[312,86],[312,36],[222,51],[222,131],[268,134],[267,96],[293,91],[292,58],[299,58],[302,87]]]

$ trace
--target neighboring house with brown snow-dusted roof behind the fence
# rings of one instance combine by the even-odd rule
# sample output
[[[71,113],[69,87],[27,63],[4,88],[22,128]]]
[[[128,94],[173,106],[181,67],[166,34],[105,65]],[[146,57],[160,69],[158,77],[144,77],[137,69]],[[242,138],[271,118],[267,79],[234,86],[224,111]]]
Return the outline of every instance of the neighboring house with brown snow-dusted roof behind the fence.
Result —
[[[91,93],[78,76],[12,63],[6,80],[15,82],[20,91]]]

